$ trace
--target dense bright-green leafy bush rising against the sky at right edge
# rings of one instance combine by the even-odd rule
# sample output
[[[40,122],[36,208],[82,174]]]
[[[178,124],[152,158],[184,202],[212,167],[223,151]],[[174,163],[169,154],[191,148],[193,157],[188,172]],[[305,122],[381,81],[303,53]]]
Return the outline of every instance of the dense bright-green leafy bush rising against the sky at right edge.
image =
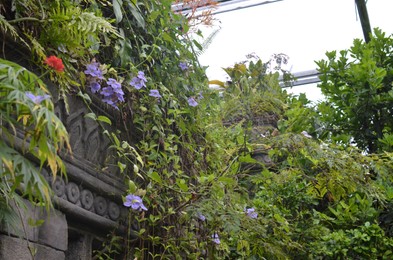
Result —
[[[319,105],[332,141],[381,152],[379,140],[392,131],[393,37],[379,29],[369,43],[354,40],[349,50],[327,52],[317,62],[327,101]]]

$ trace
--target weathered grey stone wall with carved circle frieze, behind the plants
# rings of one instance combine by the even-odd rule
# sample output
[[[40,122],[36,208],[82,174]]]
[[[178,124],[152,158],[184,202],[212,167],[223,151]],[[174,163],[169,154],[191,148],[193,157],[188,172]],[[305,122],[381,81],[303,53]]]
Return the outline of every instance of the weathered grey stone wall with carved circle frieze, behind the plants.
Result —
[[[3,45],[1,40],[0,44]],[[7,44],[4,50],[2,56],[7,60],[34,71],[24,63],[20,50]],[[56,86],[48,84],[48,87],[57,97]],[[90,111],[81,98],[70,96],[67,102],[68,113],[62,101],[54,100],[56,114],[68,130],[73,151],[72,155],[62,155],[67,176],[53,180],[49,171],[42,171],[55,193],[55,209],[48,215],[27,201],[26,210],[17,209],[21,213],[20,229],[0,228],[1,260],[87,260],[109,232],[125,232],[123,223],[128,211],[122,206],[121,196],[126,187],[124,176],[116,167],[108,166],[115,160],[110,154],[111,144],[102,134],[101,126],[85,117]],[[112,122],[120,121],[116,111],[100,105],[99,100],[93,103],[98,115],[105,115]],[[115,127],[118,126],[109,130]],[[21,146],[22,139],[17,137],[17,146],[18,143]],[[29,223],[41,219],[45,220],[42,225]]]

